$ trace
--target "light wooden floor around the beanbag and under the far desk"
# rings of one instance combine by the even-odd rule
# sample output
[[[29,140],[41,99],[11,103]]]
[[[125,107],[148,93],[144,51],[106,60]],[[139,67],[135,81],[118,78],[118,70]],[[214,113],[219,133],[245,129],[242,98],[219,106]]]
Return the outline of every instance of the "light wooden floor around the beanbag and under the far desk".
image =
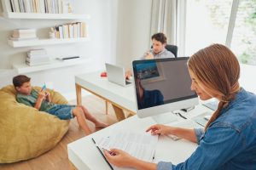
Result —
[[[102,122],[107,122],[108,124],[113,124],[116,121],[114,116],[113,108],[108,107],[108,115],[105,114],[105,102],[94,96],[90,95],[83,98],[83,105],[90,111],[91,114],[96,116]],[[76,101],[70,101],[70,104],[76,104]],[[90,129],[94,132],[100,129],[96,129],[94,124],[88,122]],[[70,122],[69,130],[67,134],[61,139],[61,142],[55,146],[52,150],[44,153],[42,156],[38,156],[34,159],[28,161],[20,161],[10,164],[0,164],[0,170],[70,170],[73,169],[69,164],[67,158],[67,144],[84,137],[84,132],[79,128],[76,119]]]

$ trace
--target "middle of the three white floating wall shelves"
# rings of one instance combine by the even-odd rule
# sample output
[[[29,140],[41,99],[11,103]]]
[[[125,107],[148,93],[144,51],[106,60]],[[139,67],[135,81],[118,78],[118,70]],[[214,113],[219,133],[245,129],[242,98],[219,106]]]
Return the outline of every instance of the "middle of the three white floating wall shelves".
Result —
[[[13,48],[22,48],[22,47],[54,45],[54,44],[73,43],[73,42],[88,42],[88,41],[90,41],[90,38],[80,37],[80,38],[67,38],[67,39],[36,39],[36,40],[20,40],[20,41],[8,40],[8,44]]]

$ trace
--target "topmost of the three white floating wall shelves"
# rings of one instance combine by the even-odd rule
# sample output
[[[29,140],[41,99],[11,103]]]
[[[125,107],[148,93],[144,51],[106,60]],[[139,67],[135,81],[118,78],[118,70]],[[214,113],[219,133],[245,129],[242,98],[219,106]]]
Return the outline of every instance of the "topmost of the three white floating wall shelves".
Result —
[[[13,13],[3,12],[3,16],[9,19],[45,19],[45,20],[88,20],[89,14],[42,14],[42,13]]]

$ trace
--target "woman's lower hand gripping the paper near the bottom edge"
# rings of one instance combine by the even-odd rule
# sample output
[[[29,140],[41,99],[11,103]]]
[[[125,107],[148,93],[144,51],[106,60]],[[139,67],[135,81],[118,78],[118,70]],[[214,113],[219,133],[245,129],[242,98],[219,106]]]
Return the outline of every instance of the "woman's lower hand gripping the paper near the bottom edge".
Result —
[[[137,160],[123,150],[112,149],[110,152],[104,150],[104,154],[107,160],[117,167],[132,167],[132,162]]]

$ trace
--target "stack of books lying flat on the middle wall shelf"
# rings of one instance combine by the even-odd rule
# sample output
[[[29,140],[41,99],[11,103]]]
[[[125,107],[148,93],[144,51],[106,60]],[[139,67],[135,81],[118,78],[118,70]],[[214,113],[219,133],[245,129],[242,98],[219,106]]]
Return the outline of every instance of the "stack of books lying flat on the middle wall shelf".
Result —
[[[16,29],[13,32],[10,40],[20,41],[20,40],[32,40],[38,39],[35,29]]]

